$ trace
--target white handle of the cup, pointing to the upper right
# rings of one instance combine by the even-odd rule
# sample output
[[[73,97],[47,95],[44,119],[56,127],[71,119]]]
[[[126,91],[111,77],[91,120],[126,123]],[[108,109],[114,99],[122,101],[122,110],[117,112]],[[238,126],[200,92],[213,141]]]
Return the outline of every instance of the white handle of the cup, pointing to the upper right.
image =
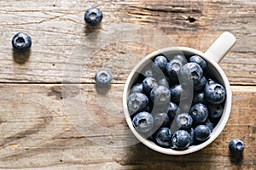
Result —
[[[235,45],[236,37],[229,31],[224,31],[205,53],[217,63],[224,58],[230,49]]]

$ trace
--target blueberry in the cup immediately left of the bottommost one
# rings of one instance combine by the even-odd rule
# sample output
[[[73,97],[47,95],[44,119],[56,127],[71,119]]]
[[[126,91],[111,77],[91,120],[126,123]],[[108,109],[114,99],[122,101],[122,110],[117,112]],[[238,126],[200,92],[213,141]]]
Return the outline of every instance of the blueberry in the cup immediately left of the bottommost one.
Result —
[[[160,127],[155,136],[155,141],[157,144],[163,147],[170,147],[172,144],[172,133],[170,128]]]

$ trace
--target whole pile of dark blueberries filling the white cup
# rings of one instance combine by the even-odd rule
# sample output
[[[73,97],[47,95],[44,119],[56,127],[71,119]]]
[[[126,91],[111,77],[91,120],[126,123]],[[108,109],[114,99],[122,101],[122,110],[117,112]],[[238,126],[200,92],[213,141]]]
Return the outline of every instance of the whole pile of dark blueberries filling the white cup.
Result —
[[[154,57],[127,100],[137,132],[174,150],[209,139],[222,116],[226,91],[206,68],[207,61],[198,55]]]

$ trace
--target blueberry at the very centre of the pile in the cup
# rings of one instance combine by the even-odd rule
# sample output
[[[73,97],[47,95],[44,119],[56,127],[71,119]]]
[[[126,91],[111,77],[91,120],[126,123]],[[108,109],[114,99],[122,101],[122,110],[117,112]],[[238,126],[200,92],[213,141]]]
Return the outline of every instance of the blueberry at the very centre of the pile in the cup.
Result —
[[[186,88],[186,86],[183,84],[176,84],[170,88],[171,92],[171,99],[173,102],[179,102],[183,99],[189,98],[189,88]]]

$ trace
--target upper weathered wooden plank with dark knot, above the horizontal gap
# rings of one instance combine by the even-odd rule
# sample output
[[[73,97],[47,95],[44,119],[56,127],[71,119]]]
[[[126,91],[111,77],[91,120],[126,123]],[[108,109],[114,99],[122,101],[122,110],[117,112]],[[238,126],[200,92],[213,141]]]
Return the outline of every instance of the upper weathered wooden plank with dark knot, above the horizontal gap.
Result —
[[[96,28],[97,31],[110,32],[113,24],[131,23],[162,31],[172,44],[202,51],[222,31],[231,31],[238,42],[220,65],[231,84],[256,83],[256,3],[246,0],[0,2],[0,82],[61,82],[65,73],[81,82],[94,82],[95,71],[114,65],[113,82],[124,83],[131,68],[154,48],[141,42],[114,44],[113,38],[113,44],[76,60],[67,68],[67,59],[81,52],[81,45],[88,42],[84,38],[94,32],[84,25],[84,11],[92,6],[101,8],[104,14],[102,26]],[[20,59],[13,56],[10,45],[17,31],[29,33],[33,41],[31,54],[25,61],[21,59],[22,65],[15,62]],[[154,32],[144,33],[148,35],[149,44],[159,42],[152,37]],[[101,33],[98,36],[101,37]],[[116,65],[118,63],[121,65]]]

